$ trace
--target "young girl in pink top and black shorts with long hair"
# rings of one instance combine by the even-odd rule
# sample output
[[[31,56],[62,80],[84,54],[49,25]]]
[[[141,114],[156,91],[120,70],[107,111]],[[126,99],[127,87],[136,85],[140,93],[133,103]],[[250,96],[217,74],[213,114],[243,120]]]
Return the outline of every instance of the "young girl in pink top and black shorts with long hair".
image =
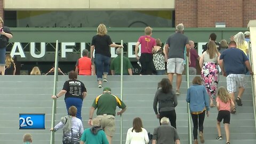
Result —
[[[218,97],[216,99],[217,109],[219,111],[217,117],[217,130],[218,137],[217,140],[222,140],[221,130],[220,130],[220,122],[223,119],[223,124],[226,132],[226,142],[229,144],[230,141],[230,133],[229,133],[229,124],[230,124],[230,110],[235,107],[235,103],[231,99],[227,89],[223,86],[219,88]]]

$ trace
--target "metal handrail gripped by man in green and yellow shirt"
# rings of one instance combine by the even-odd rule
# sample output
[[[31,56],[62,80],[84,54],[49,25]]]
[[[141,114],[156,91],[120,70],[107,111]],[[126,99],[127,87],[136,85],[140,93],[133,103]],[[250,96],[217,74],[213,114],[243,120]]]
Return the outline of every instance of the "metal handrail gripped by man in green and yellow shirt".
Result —
[[[121,40],[121,45],[123,45],[123,40]],[[121,84],[120,84],[120,97],[121,100],[123,101],[123,54],[124,50],[121,47]],[[120,115],[120,144],[123,142],[123,115]]]

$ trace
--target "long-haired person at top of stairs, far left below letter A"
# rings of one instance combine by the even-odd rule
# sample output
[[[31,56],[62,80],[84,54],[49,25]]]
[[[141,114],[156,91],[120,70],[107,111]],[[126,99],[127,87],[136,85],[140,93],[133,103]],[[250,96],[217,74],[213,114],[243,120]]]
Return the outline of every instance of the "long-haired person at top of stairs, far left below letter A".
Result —
[[[5,55],[5,75],[15,75],[16,66],[10,54]]]

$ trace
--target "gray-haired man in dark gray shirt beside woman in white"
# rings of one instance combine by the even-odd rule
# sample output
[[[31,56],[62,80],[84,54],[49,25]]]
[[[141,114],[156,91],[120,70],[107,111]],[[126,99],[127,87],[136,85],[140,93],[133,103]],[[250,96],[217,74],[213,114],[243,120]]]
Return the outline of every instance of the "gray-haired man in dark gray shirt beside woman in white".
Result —
[[[169,125],[169,118],[163,117],[160,122],[162,125],[154,130],[152,144],[180,144],[180,138],[176,129]]]

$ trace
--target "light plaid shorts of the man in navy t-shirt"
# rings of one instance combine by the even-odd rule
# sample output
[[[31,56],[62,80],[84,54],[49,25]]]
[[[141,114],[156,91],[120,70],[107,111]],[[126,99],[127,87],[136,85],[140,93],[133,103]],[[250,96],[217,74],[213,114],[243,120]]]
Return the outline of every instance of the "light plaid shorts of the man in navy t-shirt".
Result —
[[[236,92],[236,85],[245,89],[246,82],[244,74],[229,74],[227,76],[227,90],[229,93]]]

